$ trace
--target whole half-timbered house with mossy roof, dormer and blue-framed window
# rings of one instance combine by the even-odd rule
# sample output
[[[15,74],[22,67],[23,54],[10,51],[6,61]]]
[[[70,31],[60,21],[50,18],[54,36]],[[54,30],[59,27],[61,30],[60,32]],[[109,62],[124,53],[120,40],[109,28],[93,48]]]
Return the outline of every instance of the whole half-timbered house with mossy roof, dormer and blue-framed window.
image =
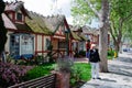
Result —
[[[43,16],[28,11],[22,1],[7,2],[2,14],[8,29],[6,52],[14,58],[46,56],[50,45],[55,57],[72,56],[72,33],[65,15]]]

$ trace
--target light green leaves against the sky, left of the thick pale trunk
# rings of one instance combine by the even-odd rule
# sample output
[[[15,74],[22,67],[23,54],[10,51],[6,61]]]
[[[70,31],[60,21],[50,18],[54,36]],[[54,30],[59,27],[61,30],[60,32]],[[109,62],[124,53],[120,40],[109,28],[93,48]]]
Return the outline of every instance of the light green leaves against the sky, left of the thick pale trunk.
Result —
[[[101,0],[89,0],[94,8],[98,11],[101,9]],[[74,23],[84,25],[90,24],[92,19],[97,19],[87,0],[73,0],[72,2],[72,15],[74,16]]]

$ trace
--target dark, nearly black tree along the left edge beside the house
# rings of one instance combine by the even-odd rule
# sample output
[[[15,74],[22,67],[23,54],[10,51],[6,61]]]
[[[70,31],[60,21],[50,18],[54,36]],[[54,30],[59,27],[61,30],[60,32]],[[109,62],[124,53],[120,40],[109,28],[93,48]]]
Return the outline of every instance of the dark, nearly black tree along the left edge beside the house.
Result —
[[[0,55],[4,51],[4,44],[7,42],[8,32],[2,20],[2,12],[4,11],[4,7],[6,7],[4,2],[0,0]]]

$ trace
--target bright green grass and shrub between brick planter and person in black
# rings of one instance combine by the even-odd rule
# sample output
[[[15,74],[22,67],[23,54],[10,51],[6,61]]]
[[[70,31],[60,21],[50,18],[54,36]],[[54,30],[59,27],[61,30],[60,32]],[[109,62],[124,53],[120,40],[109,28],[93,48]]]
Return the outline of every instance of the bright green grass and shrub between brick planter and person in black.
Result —
[[[70,85],[75,86],[79,81],[87,81],[91,78],[90,75],[90,64],[87,63],[75,63],[73,66],[73,72],[70,74]]]

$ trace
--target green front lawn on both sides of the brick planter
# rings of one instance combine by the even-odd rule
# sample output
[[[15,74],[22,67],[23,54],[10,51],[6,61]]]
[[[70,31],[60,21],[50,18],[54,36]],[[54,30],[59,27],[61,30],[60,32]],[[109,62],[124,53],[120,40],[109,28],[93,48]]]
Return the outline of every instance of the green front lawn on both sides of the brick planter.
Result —
[[[48,63],[40,66],[35,66],[33,69],[29,70],[23,77],[23,80],[31,80],[42,76],[51,74],[51,70],[55,68],[56,64]],[[91,78],[90,76],[90,64],[88,63],[75,63],[72,67],[70,84],[74,86],[78,81],[87,81]]]

